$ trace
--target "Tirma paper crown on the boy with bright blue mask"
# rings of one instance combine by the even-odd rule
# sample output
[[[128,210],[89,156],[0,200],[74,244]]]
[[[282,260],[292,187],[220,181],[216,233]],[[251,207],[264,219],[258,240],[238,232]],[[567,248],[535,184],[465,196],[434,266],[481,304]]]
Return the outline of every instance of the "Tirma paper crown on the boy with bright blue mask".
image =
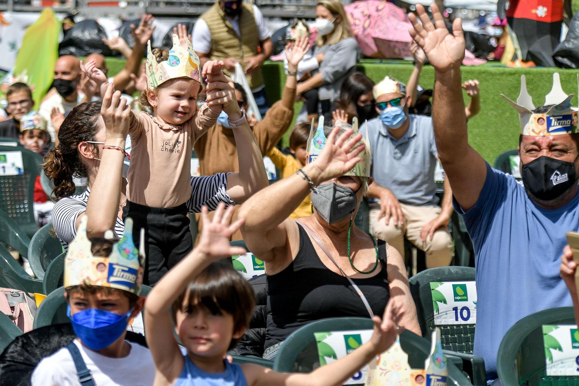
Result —
[[[145,267],[145,230],[141,229],[141,244],[137,249],[133,242],[133,220],[127,218],[123,237],[112,245],[108,257],[101,257],[91,252],[86,223],[87,216],[83,216],[76,237],[68,245],[64,258],[64,287],[86,284],[140,295]]]

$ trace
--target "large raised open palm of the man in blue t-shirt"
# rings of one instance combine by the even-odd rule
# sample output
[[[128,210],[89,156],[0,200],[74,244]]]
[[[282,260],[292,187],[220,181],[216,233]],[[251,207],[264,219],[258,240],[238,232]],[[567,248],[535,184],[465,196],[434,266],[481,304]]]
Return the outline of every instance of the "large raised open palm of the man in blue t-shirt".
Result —
[[[446,30],[446,25],[442,15],[435,4],[430,6],[434,25],[430,21],[426,10],[420,4],[416,5],[416,13],[420,17],[419,23],[416,15],[408,14],[413,28],[408,31],[426,53],[428,61],[438,71],[448,71],[450,68],[460,65],[464,58],[464,32],[462,21],[456,19],[452,23],[452,35]]]

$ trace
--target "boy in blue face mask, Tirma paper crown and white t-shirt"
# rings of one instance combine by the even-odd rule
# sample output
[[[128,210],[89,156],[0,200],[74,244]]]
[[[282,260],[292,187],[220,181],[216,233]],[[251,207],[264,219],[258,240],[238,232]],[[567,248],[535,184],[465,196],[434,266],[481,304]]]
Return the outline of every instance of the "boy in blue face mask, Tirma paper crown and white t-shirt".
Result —
[[[152,385],[151,352],[124,340],[145,303],[144,255],[133,243],[133,221],[127,218],[123,237],[114,243],[89,240],[86,223],[85,216],[64,262],[67,314],[77,339],[38,363],[32,385],[88,385],[81,382],[86,377],[99,386]]]

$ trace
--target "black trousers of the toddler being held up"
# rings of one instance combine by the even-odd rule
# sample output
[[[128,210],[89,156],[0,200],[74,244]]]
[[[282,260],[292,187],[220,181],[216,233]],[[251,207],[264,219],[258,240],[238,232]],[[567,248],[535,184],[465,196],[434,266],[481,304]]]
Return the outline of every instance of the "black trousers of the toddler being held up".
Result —
[[[133,219],[137,248],[141,228],[145,229],[145,275],[143,284],[154,285],[193,249],[185,204],[174,208],[153,208],[127,201],[123,220]]]

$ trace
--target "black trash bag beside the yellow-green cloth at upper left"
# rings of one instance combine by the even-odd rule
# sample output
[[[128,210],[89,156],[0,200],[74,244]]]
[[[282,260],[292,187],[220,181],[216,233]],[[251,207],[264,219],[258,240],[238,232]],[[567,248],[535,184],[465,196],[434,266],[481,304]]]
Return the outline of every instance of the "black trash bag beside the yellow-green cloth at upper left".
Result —
[[[87,56],[91,53],[111,56],[111,49],[102,41],[104,28],[95,20],[79,21],[58,45],[58,55]]]

